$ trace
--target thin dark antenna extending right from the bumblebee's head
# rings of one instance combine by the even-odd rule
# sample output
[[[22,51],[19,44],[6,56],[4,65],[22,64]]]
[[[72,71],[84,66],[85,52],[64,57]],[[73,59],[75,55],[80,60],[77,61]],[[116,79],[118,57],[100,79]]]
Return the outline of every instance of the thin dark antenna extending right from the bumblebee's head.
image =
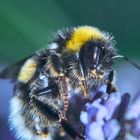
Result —
[[[124,60],[126,60],[127,62],[132,64],[135,68],[140,70],[140,65],[138,65],[136,62],[134,62],[132,59],[130,59],[130,58],[126,57],[126,56],[123,56],[123,55],[116,55],[116,56],[112,57],[112,59],[116,59],[116,58],[123,58]]]

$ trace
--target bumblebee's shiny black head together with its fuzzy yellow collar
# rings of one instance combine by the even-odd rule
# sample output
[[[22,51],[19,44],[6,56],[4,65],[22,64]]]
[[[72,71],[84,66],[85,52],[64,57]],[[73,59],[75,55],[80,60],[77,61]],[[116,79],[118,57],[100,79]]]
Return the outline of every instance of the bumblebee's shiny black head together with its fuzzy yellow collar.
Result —
[[[73,56],[81,62],[85,74],[94,70],[108,70],[112,65],[112,59],[116,56],[113,37],[98,28],[81,26],[58,32],[57,43],[66,55]]]

